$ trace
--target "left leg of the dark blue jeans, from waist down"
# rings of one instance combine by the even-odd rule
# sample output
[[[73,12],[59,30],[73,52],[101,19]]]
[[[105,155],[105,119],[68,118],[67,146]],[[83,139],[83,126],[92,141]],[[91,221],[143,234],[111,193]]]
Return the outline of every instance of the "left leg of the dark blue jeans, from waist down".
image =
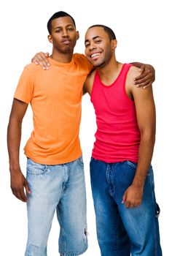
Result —
[[[102,256],[130,255],[130,241],[122,223],[117,203],[112,197],[109,164],[90,161],[90,179],[95,207],[98,244]]]

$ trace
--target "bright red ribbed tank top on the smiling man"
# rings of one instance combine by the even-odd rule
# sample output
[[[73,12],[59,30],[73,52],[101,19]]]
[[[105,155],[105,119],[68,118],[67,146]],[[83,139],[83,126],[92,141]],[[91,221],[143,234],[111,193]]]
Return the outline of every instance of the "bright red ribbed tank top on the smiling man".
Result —
[[[105,86],[95,72],[91,102],[95,109],[97,131],[92,157],[103,162],[138,162],[140,131],[136,108],[125,92],[131,64],[123,64],[114,83]]]

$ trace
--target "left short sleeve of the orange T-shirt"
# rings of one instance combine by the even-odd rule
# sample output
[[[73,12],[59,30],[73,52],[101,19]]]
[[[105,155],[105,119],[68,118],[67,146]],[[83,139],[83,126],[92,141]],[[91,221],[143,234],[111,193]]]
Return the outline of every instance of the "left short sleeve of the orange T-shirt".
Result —
[[[25,67],[20,76],[20,80],[15,90],[15,99],[29,103],[34,96],[34,80],[31,77],[31,71]]]

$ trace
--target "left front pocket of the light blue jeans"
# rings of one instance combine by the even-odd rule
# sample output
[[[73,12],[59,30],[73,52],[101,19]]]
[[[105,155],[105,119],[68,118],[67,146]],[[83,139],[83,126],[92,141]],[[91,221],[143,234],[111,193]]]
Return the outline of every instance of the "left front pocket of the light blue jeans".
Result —
[[[26,170],[27,170],[27,173],[40,175],[47,172],[47,165],[37,164],[31,159],[28,159]]]

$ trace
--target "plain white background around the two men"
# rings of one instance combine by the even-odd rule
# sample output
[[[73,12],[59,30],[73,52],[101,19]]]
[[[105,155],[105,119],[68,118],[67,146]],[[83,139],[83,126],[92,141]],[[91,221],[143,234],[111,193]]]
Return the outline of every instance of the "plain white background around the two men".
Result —
[[[84,35],[88,26],[96,23],[111,27],[118,39],[118,61],[141,61],[156,69],[154,83],[157,105],[157,140],[153,166],[155,191],[160,204],[160,233],[163,255],[171,255],[171,7],[170,1],[1,1],[1,100],[0,100],[0,237],[1,255],[23,256],[26,246],[26,205],[17,200],[9,187],[7,156],[7,123],[12,97],[23,67],[40,50],[51,53],[47,41],[47,20],[59,10],[69,12],[80,32],[75,52],[84,53]],[[89,249],[85,256],[100,255],[95,236],[95,214],[90,191],[89,159],[95,133],[95,116],[90,99],[82,102],[80,138],[85,160],[87,184],[87,222]],[[143,110],[144,111],[144,110]],[[42,112],[44,115],[44,112]],[[23,120],[20,165],[23,173],[26,158],[23,146],[32,129],[31,110]],[[169,232],[170,231],[170,232]],[[58,255],[58,222],[53,221],[48,244],[48,255]],[[148,255],[153,256],[153,255]]]

